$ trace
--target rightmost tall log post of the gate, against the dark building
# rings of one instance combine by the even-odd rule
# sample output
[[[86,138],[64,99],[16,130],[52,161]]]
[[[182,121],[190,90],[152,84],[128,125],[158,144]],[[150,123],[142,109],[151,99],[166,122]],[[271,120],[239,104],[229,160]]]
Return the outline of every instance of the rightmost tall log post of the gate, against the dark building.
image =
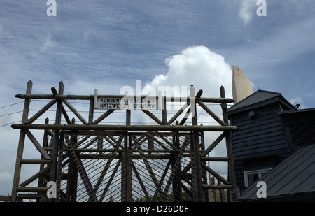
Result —
[[[220,87],[220,95],[221,98],[225,98],[225,89],[223,86]],[[223,114],[223,122],[225,124],[229,125],[229,118],[228,118],[228,106],[226,103],[221,104],[222,107],[222,114]],[[230,184],[232,185],[232,189],[230,191],[231,201],[237,201],[237,186],[236,186],[236,180],[235,180],[235,168],[234,168],[234,159],[233,159],[233,153],[232,153],[232,141],[230,133],[227,133],[225,136],[226,141],[226,149],[227,154],[229,158],[229,164],[228,164],[228,179],[230,181]]]

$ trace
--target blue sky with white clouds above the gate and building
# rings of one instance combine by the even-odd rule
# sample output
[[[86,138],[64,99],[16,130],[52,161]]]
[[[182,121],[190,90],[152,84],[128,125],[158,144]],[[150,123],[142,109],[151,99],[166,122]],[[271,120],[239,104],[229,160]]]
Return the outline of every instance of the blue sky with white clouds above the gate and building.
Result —
[[[27,82],[33,94],[120,94],[123,86],[190,86],[232,96],[232,65],[253,92],[315,107],[315,2],[266,0],[0,2],[0,195],[11,192]],[[33,105],[34,104],[34,105]],[[31,108],[44,103],[33,101]],[[32,149],[25,150],[29,155]]]

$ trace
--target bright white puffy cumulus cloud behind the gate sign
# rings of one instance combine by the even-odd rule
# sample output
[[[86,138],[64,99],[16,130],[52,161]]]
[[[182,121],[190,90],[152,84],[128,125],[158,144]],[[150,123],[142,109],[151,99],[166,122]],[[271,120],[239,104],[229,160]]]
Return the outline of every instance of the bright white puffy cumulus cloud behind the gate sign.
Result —
[[[196,92],[203,90],[202,96],[220,96],[220,87],[225,87],[227,97],[232,96],[232,69],[222,55],[211,52],[204,46],[186,48],[179,55],[166,59],[169,66],[167,75],[156,75],[144,90],[158,89],[159,86],[194,85]],[[189,93],[189,91],[188,91]],[[178,95],[179,96],[179,95]]]

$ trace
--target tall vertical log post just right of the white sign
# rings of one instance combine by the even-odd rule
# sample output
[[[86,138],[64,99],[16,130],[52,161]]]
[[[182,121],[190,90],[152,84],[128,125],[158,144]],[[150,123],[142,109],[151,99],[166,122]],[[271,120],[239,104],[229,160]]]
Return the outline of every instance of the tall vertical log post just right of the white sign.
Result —
[[[195,98],[195,87],[190,86],[190,111],[192,113],[193,125],[198,125],[197,107]],[[204,189],[202,187],[202,166],[200,159],[200,144],[198,131],[191,133],[190,154],[192,168],[193,201],[204,202]]]

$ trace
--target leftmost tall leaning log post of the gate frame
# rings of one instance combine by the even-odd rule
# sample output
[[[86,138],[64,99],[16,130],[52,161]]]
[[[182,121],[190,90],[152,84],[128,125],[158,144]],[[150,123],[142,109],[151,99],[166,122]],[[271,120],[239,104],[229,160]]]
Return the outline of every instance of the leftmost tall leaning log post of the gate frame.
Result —
[[[26,94],[31,94],[31,89],[33,87],[33,82],[29,80],[27,82],[27,90]],[[31,103],[31,99],[25,99],[24,103],[24,110],[22,115],[22,124],[25,124],[29,118],[29,105]],[[21,174],[21,160],[23,157],[23,150],[25,145],[25,130],[20,130],[20,138],[18,143],[18,152],[16,155],[16,161],[15,161],[15,171],[14,171],[14,177],[13,177],[13,187],[12,187],[12,193],[11,193],[11,202],[15,202],[18,196],[17,187],[20,182],[20,174]]]

